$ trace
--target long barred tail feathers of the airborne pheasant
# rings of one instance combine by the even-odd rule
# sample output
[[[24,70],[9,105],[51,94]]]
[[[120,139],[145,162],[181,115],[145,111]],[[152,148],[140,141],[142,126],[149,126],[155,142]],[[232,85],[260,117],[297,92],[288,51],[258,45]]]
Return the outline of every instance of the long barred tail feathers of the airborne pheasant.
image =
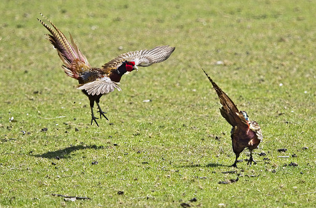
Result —
[[[55,29],[53,30],[42,20],[38,19],[38,21],[40,21],[40,23],[51,34],[46,35],[49,37],[48,40],[51,42],[54,48],[57,49],[58,55],[64,63],[63,69],[65,70],[65,73],[67,73],[67,75],[73,78],[78,78],[78,73],[82,72],[80,70],[90,68],[88,60],[78,49],[77,45],[73,40],[73,37],[70,34],[69,35],[71,43],[67,40],[66,36],[51,21],[49,21],[44,15],[40,15],[43,16]]]

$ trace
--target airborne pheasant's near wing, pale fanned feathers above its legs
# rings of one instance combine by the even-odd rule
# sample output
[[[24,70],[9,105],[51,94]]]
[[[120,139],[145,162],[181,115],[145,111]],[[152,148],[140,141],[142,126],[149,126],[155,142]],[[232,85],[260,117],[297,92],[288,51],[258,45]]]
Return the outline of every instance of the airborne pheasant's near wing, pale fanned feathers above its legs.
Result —
[[[118,84],[118,82],[114,82],[109,77],[104,76],[102,78],[97,78],[92,82],[80,84],[77,89],[86,90],[88,95],[103,95],[113,92],[115,89],[121,91],[120,87],[118,87]]]

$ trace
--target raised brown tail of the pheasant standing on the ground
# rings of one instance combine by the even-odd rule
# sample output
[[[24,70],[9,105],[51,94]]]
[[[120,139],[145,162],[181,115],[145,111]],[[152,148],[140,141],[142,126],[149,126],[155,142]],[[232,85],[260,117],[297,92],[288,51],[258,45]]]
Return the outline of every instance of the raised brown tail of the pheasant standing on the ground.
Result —
[[[202,69],[204,71],[204,69]],[[238,126],[241,128],[249,129],[249,124],[246,121],[245,117],[239,113],[234,102],[223,92],[221,88],[217,86],[217,84],[207,75],[204,71],[209,81],[212,83],[213,88],[215,89],[220,103],[223,105],[220,108],[222,116],[226,119],[226,121],[232,125],[233,127]]]

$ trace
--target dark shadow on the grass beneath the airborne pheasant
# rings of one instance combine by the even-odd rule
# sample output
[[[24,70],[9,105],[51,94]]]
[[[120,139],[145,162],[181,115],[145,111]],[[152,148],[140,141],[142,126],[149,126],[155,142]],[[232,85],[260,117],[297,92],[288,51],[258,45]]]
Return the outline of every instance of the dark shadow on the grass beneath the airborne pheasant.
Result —
[[[43,158],[65,158],[73,151],[77,151],[80,149],[104,149],[104,146],[97,146],[97,145],[77,145],[77,146],[70,146],[64,149],[59,149],[52,152],[46,152],[41,155],[34,155],[35,157],[43,157]]]

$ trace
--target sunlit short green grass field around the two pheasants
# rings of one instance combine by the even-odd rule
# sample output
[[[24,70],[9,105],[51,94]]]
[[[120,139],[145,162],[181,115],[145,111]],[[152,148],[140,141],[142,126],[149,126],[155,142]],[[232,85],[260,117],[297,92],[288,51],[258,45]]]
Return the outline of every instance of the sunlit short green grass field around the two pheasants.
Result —
[[[0,11],[0,207],[316,206],[316,2],[4,0]],[[124,75],[101,98],[110,121],[90,126],[40,12],[94,67],[176,50]],[[231,127],[201,68],[260,124],[257,165],[230,167]]]

